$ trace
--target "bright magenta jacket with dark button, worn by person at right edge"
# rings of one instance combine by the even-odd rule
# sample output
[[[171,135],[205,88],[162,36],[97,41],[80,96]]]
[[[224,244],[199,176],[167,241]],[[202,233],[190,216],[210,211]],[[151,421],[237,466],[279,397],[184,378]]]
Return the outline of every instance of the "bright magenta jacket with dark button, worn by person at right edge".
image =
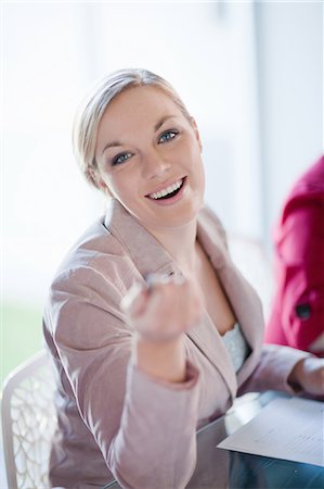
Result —
[[[276,290],[265,341],[324,356],[324,156],[290,190],[274,243]]]

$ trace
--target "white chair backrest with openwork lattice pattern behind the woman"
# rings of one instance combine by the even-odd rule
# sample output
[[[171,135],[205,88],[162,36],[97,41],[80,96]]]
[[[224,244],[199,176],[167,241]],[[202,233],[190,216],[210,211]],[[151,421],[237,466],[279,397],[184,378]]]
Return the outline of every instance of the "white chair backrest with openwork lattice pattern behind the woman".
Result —
[[[54,378],[44,351],[9,375],[1,418],[8,487],[49,488],[48,465],[56,426]]]

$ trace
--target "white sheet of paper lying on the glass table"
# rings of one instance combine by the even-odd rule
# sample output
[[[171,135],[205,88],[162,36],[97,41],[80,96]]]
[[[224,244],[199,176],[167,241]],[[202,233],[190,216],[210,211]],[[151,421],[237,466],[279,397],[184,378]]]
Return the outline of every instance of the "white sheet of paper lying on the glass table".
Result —
[[[278,398],[218,448],[324,467],[324,402]]]

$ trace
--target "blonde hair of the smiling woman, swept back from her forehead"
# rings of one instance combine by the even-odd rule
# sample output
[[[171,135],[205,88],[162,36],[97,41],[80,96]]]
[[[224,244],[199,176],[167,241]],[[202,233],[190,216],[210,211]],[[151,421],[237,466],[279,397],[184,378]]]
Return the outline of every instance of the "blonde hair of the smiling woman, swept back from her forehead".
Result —
[[[153,86],[169,96],[183,115],[191,116],[174,88],[163,77],[142,68],[119,70],[100,80],[80,104],[73,129],[73,146],[77,163],[87,180],[101,189],[95,161],[100,121],[108,104],[122,91],[133,87]]]

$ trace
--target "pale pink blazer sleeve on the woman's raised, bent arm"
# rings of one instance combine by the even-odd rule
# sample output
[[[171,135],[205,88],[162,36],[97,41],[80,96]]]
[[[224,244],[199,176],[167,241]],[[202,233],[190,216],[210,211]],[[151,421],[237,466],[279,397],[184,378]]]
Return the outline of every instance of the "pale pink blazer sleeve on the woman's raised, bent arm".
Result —
[[[51,296],[59,356],[80,416],[118,482],[185,487],[196,463],[198,372],[187,363],[187,380],[169,384],[138,369],[120,299],[120,290],[91,267],[59,277]]]

